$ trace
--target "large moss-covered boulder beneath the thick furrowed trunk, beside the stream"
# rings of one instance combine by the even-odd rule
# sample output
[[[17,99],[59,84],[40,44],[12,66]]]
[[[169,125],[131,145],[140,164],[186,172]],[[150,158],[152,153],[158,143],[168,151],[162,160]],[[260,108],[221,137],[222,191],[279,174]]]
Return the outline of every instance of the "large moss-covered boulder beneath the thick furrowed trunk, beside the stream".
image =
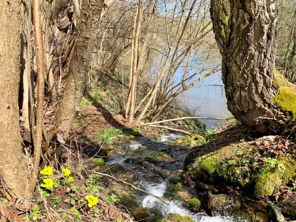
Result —
[[[185,169],[195,181],[254,190],[257,198],[271,195],[283,182],[296,178],[296,158],[292,156],[279,157],[274,166],[258,165],[256,161],[249,164],[248,158],[256,155],[254,145],[256,142],[231,144],[198,156]]]

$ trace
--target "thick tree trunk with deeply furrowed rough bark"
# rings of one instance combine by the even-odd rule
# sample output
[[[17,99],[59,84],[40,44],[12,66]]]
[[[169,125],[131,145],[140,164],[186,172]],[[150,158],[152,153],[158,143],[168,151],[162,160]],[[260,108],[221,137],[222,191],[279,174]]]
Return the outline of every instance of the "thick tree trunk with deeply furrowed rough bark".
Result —
[[[229,111],[250,129],[282,131],[293,114],[275,102],[278,5],[273,0],[211,0],[211,17],[222,54]]]

